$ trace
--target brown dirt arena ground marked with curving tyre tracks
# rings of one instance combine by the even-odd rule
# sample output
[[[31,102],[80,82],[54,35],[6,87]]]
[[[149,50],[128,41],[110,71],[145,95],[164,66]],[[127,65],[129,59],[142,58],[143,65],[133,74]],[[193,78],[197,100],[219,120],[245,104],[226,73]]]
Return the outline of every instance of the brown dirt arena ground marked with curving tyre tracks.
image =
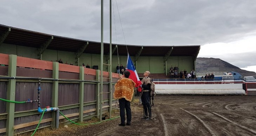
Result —
[[[256,96],[158,95],[152,107],[154,120],[150,121],[141,119],[143,108],[136,99],[131,104],[130,126],[118,126],[120,118],[117,118],[62,130],[58,136],[256,135]]]

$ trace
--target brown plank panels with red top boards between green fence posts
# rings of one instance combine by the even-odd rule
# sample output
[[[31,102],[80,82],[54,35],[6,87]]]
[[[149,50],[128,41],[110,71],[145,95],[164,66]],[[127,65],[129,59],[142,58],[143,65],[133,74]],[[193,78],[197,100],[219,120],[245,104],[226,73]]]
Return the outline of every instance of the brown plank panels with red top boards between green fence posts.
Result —
[[[0,77],[7,76],[9,55],[0,53]],[[79,80],[80,67],[66,64],[59,64],[59,79]],[[52,79],[53,62],[36,60],[32,58],[17,56],[17,77],[49,78]],[[96,70],[84,68],[85,80],[96,81]],[[104,81],[109,81],[109,72],[103,71]],[[113,82],[117,82],[119,74],[112,73]],[[53,81],[42,80],[40,91],[41,108],[52,105]],[[98,81],[99,82],[99,81]],[[8,80],[0,80],[0,98],[6,99]],[[84,84],[84,116],[95,114],[97,82],[85,82]],[[112,85],[113,87],[114,85]],[[38,97],[38,80],[17,79],[15,90],[15,101],[37,100]],[[58,107],[60,111],[70,119],[79,117],[79,82],[59,81],[58,83]],[[104,92],[109,92],[109,84],[103,85]],[[114,89],[112,89],[112,92]],[[103,94],[103,109],[106,111],[109,107],[109,93]],[[88,104],[86,104],[88,103]],[[112,101],[114,103],[114,101]],[[6,102],[0,101],[0,135],[6,132]],[[15,104],[14,129],[15,133],[35,129],[38,124],[41,113],[37,112],[38,103]],[[45,113],[40,127],[49,126],[52,121],[52,114]],[[94,117],[94,116],[91,116]],[[64,117],[60,116],[60,119]],[[75,121],[75,120],[74,120]]]

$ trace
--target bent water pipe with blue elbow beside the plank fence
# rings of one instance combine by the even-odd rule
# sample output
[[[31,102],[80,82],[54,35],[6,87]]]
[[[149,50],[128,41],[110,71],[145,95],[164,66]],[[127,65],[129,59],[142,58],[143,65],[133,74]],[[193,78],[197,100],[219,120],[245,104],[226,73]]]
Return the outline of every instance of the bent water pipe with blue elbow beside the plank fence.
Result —
[[[55,118],[55,122],[56,122],[56,126],[55,128],[58,129],[59,128],[59,108],[58,107],[48,107],[48,108],[44,108],[42,109],[40,107],[40,91],[41,91],[41,79],[39,79],[38,81],[38,108],[37,108],[37,111],[39,113],[42,113],[42,112],[50,112],[50,111],[56,111],[56,118]]]

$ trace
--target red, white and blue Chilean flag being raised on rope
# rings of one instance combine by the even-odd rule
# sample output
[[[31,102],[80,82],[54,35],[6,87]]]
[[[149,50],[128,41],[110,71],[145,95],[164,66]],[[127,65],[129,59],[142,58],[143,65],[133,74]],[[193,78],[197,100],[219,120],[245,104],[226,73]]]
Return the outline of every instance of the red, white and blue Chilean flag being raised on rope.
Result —
[[[139,79],[139,76],[138,76],[138,73],[131,61],[131,57],[130,55],[128,54],[128,59],[127,59],[127,65],[126,65],[126,70],[128,70],[130,72],[130,76],[129,76],[129,79],[131,79],[132,81],[134,81],[136,83],[136,86],[135,87],[138,87],[141,85],[141,81]]]

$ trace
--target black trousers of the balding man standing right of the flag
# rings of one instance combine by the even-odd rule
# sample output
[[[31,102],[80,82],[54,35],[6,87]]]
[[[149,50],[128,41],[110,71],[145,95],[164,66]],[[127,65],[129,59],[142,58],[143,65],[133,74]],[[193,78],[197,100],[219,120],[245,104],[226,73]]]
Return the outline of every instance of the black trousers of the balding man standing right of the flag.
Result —
[[[144,109],[145,116],[151,117],[151,106],[150,106],[150,92],[142,92],[141,101]]]

